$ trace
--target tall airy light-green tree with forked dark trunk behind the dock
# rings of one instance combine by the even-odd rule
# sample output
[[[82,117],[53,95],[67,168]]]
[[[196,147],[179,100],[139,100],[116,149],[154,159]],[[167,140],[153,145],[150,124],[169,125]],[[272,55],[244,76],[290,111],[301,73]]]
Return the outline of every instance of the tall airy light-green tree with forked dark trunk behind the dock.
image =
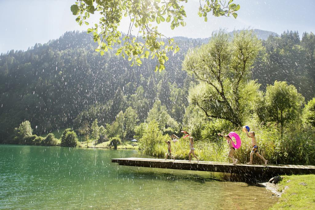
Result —
[[[259,52],[263,47],[252,30],[233,37],[213,33],[208,44],[188,52],[183,62],[183,69],[199,81],[190,89],[190,102],[208,117],[241,125],[258,95],[259,84],[249,78]]]

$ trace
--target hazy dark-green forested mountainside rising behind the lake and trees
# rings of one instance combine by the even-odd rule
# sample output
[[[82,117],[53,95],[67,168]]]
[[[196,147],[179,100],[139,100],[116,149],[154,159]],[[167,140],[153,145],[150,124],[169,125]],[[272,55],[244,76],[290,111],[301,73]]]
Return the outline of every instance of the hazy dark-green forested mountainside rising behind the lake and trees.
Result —
[[[0,56],[0,141],[13,135],[25,120],[35,133],[64,127],[78,128],[82,122],[112,123],[120,111],[132,107],[144,122],[153,104],[160,100],[179,124],[188,106],[188,90],[196,81],[182,71],[189,48],[208,39],[177,37],[180,52],[169,55],[166,69],[154,72],[156,60],[130,66],[113,52],[94,51],[95,43],[85,32],[66,32],[47,44]],[[266,48],[252,71],[262,84],[275,80],[295,85],[311,99],[315,82],[315,37],[287,31],[264,40]],[[159,107],[159,104],[155,104]]]

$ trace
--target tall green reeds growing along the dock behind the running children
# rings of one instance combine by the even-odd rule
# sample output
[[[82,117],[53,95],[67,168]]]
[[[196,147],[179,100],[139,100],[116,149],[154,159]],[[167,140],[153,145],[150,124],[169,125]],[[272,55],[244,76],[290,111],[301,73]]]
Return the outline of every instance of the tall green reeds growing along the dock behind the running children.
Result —
[[[296,127],[288,125],[281,136],[280,130],[275,126],[261,126],[249,124],[255,131],[259,153],[270,164],[301,164],[315,165],[315,131],[314,128]],[[239,134],[242,145],[235,150],[234,157],[239,163],[249,162],[252,150],[251,139],[241,129],[235,129]],[[228,158],[228,145],[223,138],[217,140],[195,139],[195,154],[201,161],[231,162]],[[188,160],[189,140],[180,138],[176,143],[171,142],[172,154],[175,159]],[[153,154],[157,157],[165,157],[167,144],[162,142],[155,146]],[[254,164],[262,164],[262,160],[254,155]]]

